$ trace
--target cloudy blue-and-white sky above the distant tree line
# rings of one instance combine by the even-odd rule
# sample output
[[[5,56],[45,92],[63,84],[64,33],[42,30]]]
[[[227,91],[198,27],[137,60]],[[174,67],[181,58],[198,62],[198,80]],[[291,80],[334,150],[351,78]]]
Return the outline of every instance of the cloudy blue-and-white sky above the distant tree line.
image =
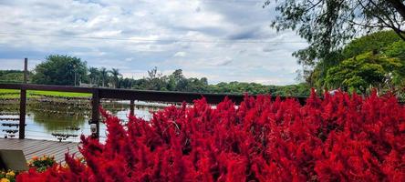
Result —
[[[269,27],[265,0],[0,0],[0,69],[29,68],[51,54],[140,78],[163,74],[218,82],[296,83],[306,46],[294,32]]]

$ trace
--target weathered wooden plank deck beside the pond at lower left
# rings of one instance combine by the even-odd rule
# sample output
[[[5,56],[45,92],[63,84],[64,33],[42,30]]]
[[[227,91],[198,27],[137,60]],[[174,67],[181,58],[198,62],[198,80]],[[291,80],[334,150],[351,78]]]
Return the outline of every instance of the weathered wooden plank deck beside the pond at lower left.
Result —
[[[19,149],[23,150],[26,160],[32,157],[41,157],[44,155],[55,156],[57,162],[65,160],[65,153],[78,152],[78,143],[75,142],[57,142],[36,139],[5,139],[0,138],[0,149]]]

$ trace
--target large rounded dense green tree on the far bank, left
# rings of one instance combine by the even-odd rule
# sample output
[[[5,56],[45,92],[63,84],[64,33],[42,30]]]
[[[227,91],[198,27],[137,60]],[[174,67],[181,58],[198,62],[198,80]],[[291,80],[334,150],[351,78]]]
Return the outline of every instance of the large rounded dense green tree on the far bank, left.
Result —
[[[37,65],[32,77],[36,84],[76,86],[87,79],[87,63],[75,56],[47,56],[46,61]]]

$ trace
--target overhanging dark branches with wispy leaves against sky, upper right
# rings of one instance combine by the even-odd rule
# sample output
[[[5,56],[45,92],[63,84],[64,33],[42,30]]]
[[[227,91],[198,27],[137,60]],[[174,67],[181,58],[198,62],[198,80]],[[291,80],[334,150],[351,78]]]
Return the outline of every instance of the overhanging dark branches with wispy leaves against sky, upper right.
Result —
[[[265,6],[273,2],[267,0]],[[277,31],[292,29],[310,44],[293,55],[303,66],[333,61],[336,52],[358,35],[392,29],[405,40],[403,0],[285,0],[277,1],[272,23]],[[327,64],[326,64],[327,65]]]

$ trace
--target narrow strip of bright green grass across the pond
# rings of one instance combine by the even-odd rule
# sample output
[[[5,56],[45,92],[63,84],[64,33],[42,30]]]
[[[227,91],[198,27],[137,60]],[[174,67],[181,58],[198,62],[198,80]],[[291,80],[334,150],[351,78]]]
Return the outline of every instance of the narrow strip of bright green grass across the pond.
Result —
[[[17,98],[19,97],[19,90],[13,89],[0,89],[0,98]],[[39,91],[39,90],[28,90],[26,96],[36,97],[32,95],[46,95],[46,96],[65,96],[65,97],[80,97],[80,96],[91,96],[87,93],[73,93],[73,92],[57,92],[57,91]]]

